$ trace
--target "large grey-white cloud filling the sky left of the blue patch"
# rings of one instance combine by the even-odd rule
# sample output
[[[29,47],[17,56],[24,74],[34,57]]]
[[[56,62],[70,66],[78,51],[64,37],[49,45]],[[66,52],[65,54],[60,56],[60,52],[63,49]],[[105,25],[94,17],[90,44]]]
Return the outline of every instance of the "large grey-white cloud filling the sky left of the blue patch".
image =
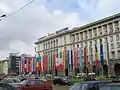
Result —
[[[14,11],[11,7],[16,7],[21,0],[11,0],[10,12]],[[38,1],[37,1],[38,2]],[[22,0],[20,4],[26,3]],[[8,4],[8,2],[4,2]],[[19,5],[21,6],[21,5]],[[18,7],[19,7],[18,6]],[[16,10],[15,8],[15,10]],[[49,12],[44,4],[39,5],[34,2],[24,10],[15,15],[3,19],[0,27],[0,50],[9,53],[31,53],[34,55],[34,41],[39,37],[55,32],[58,29],[69,26],[78,26],[80,23],[79,14],[76,12],[65,13],[61,10]],[[1,52],[2,53],[2,52]],[[4,53],[6,55],[6,53]]]

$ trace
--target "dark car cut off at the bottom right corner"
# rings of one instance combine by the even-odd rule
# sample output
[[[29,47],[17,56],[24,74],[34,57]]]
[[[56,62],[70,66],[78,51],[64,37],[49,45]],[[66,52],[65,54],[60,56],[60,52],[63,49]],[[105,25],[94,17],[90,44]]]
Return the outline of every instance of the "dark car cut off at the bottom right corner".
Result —
[[[98,90],[120,90],[120,83],[109,83],[100,87]]]

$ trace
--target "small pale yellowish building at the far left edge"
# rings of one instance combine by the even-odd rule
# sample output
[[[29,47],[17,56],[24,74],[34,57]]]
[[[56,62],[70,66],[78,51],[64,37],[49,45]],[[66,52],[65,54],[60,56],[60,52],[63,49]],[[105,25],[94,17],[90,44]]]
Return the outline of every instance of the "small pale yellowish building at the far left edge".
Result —
[[[8,74],[8,60],[0,61],[0,74]]]

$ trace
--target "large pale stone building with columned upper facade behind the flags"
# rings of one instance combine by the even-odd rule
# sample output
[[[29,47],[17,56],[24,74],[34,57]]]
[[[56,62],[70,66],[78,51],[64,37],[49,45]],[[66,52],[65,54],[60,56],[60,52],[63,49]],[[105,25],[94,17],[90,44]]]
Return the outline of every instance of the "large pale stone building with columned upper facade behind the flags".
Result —
[[[95,48],[97,45],[98,54],[100,54],[99,45],[102,41],[104,53],[104,74],[120,75],[120,13],[91,22],[84,26],[75,27],[72,30],[64,28],[55,33],[41,37],[35,42],[36,56],[42,56],[48,52],[53,53],[55,50],[61,52],[64,50],[74,50],[75,47],[92,46],[91,58],[88,59],[89,71],[95,67]],[[88,51],[88,58],[89,58]],[[74,59],[74,58],[73,58]],[[98,56],[100,60],[100,55]],[[69,70],[74,73],[75,70]]]

